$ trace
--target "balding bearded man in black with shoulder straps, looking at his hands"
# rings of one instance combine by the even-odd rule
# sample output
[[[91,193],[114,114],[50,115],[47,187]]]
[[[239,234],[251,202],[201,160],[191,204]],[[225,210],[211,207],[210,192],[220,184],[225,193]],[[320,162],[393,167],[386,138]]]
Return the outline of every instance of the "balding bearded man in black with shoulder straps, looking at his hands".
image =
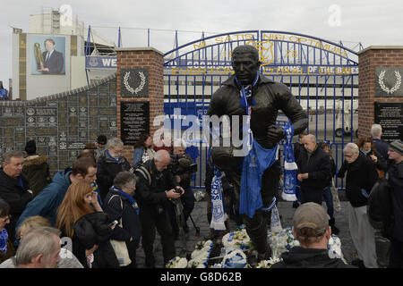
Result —
[[[167,170],[171,157],[166,150],[159,150],[153,159],[135,170],[135,199],[140,207],[141,241],[145,254],[145,266],[155,268],[155,230],[161,236],[164,264],[176,257],[174,235],[167,214],[168,199],[180,198],[184,194],[172,172]]]

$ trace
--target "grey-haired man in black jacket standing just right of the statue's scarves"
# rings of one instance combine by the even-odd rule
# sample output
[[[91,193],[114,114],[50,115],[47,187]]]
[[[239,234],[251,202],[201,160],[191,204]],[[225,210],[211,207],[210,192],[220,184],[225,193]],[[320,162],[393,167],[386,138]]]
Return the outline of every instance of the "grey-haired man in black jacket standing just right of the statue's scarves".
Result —
[[[304,136],[302,143],[304,151],[296,162],[296,178],[301,182],[301,204],[314,202],[322,205],[323,189],[331,177],[330,157],[316,144],[313,134]]]

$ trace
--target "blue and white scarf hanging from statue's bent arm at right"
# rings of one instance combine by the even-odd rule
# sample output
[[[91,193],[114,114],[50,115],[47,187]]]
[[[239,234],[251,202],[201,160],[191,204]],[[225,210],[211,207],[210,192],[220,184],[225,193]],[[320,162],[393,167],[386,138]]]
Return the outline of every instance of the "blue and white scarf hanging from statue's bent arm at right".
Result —
[[[293,145],[291,140],[294,136],[294,127],[288,122],[283,127],[286,132],[286,144],[284,145],[284,187],[281,198],[287,201],[296,200],[296,162],[294,159]]]

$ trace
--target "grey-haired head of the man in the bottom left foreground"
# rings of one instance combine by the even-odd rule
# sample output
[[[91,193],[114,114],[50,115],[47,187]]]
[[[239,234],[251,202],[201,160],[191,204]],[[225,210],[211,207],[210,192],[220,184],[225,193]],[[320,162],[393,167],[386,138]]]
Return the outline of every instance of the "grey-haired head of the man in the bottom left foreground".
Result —
[[[46,226],[27,231],[17,249],[16,268],[57,268],[60,261],[60,233]]]

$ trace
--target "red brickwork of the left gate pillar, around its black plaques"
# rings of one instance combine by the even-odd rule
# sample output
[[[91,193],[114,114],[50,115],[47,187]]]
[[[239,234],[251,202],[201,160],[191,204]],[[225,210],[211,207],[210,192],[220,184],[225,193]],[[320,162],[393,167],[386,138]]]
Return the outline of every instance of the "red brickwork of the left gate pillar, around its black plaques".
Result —
[[[164,114],[164,55],[152,47],[124,47],[116,48],[116,93],[117,93],[117,137],[121,134],[121,103],[122,102],[149,102],[150,103],[150,135],[159,127],[153,127],[154,117]],[[122,89],[122,69],[145,69],[148,71],[148,92],[127,97],[127,90]],[[133,89],[136,88],[133,86]],[[123,93],[125,96],[123,97]],[[132,163],[133,145],[124,146],[124,156]]]

